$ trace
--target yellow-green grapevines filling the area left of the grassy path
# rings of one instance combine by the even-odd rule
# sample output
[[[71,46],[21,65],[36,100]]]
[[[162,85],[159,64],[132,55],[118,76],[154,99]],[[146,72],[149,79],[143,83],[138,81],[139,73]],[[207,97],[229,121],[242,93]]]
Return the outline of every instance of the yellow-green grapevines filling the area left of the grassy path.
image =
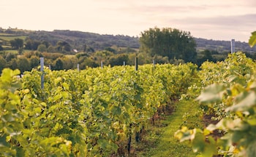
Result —
[[[0,156],[123,156],[159,108],[197,79],[197,67],[143,65],[37,70],[0,78]],[[132,136],[133,135],[133,136]]]

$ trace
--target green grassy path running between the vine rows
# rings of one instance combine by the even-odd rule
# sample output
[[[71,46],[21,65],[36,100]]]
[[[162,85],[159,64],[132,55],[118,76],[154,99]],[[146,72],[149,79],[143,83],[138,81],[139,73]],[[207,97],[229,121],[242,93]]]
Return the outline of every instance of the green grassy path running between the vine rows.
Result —
[[[187,113],[187,114],[186,114]],[[152,126],[151,131],[146,134],[146,147],[143,151],[138,152],[138,156],[196,156],[192,148],[186,142],[178,142],[174,138],[174,133],[180,129],[184,123],[184,115],[187,121],[185,126],[198,127],[201,125],[200,114],[195,102],[182,100],[177,102],[176,110],[165,119],[159,121],[160,126]]]

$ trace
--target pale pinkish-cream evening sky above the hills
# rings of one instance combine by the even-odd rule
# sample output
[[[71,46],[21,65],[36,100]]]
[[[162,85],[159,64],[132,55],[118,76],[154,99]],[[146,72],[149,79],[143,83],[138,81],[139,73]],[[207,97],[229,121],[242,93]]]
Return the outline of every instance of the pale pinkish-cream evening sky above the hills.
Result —
[[[203,39],[248,42],[256,0],[0,0],[0,27],[140,36],[177,28]]]

